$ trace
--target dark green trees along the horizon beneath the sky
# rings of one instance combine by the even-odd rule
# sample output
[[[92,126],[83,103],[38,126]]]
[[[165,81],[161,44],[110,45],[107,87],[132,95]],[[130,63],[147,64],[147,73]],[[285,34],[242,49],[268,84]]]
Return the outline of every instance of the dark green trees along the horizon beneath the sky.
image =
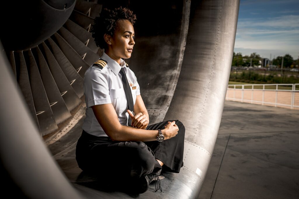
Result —
[[[257,67],[261,65],[262,58],[257,53],[251,53],[248,55],[242,55],[242,53],[235,53],[233,55],[233,60],[231,66],[239,66],[239,67]],[[250,63],[251,62],[251,63]],[[270,64],[276,66],[277,68],[281,67],[282,56],[278,56],[272,60],[270,60]],[[267,64],[267,67],[270,66]],[[286,54],[283,56],[283,68],[298,68],[299,67],[299,57],[298,59],[294,59],[290,54]]]

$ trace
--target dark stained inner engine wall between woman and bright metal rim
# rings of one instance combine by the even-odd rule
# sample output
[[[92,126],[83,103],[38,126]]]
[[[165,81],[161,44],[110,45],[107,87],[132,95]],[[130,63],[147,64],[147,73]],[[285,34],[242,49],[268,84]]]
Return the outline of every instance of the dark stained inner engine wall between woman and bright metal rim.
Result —
[[[141,87],[150,124],[163,121],[167,113],[178,83],[186,47],[191,1],[177,1],[173,4],[173,10],[167,10],[167,3],[161,4],[157,10],[160,13],[157,19],[146,18],[148,16],[143,13],[155,9],[154,5],[148,6],[147,11],[135,11],[137,16],[146,19],[135,25],[138,39],[128,63]],[[148,27],[151,27],[149,35]]]

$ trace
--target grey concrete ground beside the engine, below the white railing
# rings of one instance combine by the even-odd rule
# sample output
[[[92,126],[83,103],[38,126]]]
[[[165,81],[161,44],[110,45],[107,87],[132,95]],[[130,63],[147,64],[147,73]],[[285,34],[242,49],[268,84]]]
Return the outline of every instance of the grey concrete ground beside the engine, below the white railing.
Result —
[[[299,198],[299,110],[225,101],[206,198]]]

